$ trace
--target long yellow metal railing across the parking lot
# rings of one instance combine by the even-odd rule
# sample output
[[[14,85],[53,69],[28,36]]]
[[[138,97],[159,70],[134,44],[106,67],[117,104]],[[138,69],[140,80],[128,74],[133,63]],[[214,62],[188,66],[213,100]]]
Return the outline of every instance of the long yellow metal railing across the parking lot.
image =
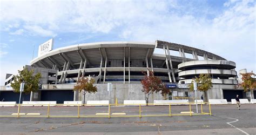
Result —
[[[183,104],[182,106],[180,106],[181,104]],[[186,105],[184,105],[186,104]],[[33,105],[33,104],[32,104]],[[31,105],[31,106],[32,106]],[[14,115],[1,115],[1,111],[3,110],[3,107],[0,111],[0,117],[46,117],[46,118],[54,118],[54,117],[69,117],[69,118],[89,118],[89,117],[105,117],[105,118],[111,118],[111,117],[139,117],[139,118],[142,118],[142,117],[156,117],[156,116],[169,116],[169,117],[172,117],[172,116],[193,116],[193,115],[212,115],[212,112],[211,112],[211,104],[210,103],[198,103],[198,105],[200,105],[200,110],[201,112],[200,113],[194,113],[192,111],[192,108],[191,106],[195,106],[195,103],[168,103],[168,104],[164,104],[164,103],[161,103],[161,104],[153,104],[153,103],[149,103],[149,104],[108,104],[107,106],[100,106],[100,107],[103,107],[103,109],[106,109],[107,108],[107,113],[104,113],[102,115],[97,115],[96,112],[93,112],[95,113],[95,115],[85,115],[84,113],[81,113],[81,108],[84,109],[86,111],[86,108],[88,107],[91,107],[93,105],[97,105],[96,106],[93,106],[95,107],[95,109],[100,109],[101,111],[103,110],[102,108],[99,107],[99,105],[102,105],[102,104],[90,104],[90,106],[86,106],[87,104],[57,104],[56,106],[52,106],[50,104],[35,104],[36,106],[38,105],[41,105],[42,107],[29,107],[29,109],[43,109],[44,108],[47,108],[47,111],[44,115],[36,115],[36,116],[33,116],[33,115],[21,115],[21,110],[22,110],[22,107],[23,105],[22,104],[18,104],[18,113],[12,113]],[[135,105],[135,106],[134,106]],[[186,106],[188,105],[188,108],[186,109]],[[24,105],[26,107],[28,107],[28,105]],[[52,114],[50,115],[50,111],[51,109],[56,109],[58,107],[64,107],[64,106],[68,106],[68,107],[77,107],[77,115],[63,115],[63,114],[60,114],[60,115],[56,115],[56,114]],[[115,107],[114,107],[115,106]],[[203,111],[203,106],[208,106],[208,112],[204,112]],[[126,115],[123,114],[123,113],[120,113],[120,115],[114,115],[113,113],[111,114],[111,112],[114,112],[112,111],[113,109],[117,109],[118,107],[124,107],[125,111],[127,112],[127,110],[129,109],[134,109],[134,110],[137,110],[138,113],[135,113],[135,114],[129,114],[129,115]],[[153,114],[142,114],[143,110],[142,110],[142,107],[145,107],[145,110],[147,109],[147,107],[161,107],[162,109],[164,109],[163,111],[165,113],[161,113],[161,114],[157,114],[159,112],[156,111],[152,111],[152,109],[150,109],[150,111],[152,111]],[[183,109],[183,111],[185,110],[186,112],[185,113],[177,113],[177,111],[180,111],[179,109],[173,109],[173,108],[176,108],[176,107],[181,107]],[[6,107],[6,109],[8,109],[10,107]],[[12,107],[13,108],[13,107]],[[137,109],[136,109],[137,108]],[[38,110],[39,110],[38,109]],[[92,108],[91,108],[92,109]],[[91,111],[91,109],[89,108],[89,110]],[[120,109],[120,108],[119,108]],[[23,110],[23,111],[28,111],[28,110]],[[120,110],[119,110],[120,111]],[[173,111],[176,111],[176,113],[173,113]],[[58,110],[57,110],[58,112]],[[75,111],[72,109],[70,111],[71,113],[74,113]],[[124,111],[123,111],[124,112]],[[128,111],[129,112],[129,111]],[[28,113],[27,113],[28,114]]]

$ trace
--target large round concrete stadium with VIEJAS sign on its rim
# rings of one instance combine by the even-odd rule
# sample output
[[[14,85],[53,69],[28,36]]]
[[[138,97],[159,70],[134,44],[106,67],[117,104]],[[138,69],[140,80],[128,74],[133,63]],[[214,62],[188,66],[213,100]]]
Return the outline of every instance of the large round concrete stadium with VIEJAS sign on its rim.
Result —
[[[86,95],[85,100],[145,100],[142,92],[144,73],[150,71],[159,77],[171,90],[169,95],[154,93],[149,102],[164,99],[193,99],[188,90],[194,76],[210,73],[213,87],[205,99],[227,99],[234,95],[247,98],[238,89],[235,63],[211,52],[190,46],[156,40],[144,42],[98,42],[66,46],[52,50],[53,39],[39,46],[38,57],[26,68],[41,72],[41,87],[38,92],[23,95],[30,101],[77,101],[83,100],[82,92],[73,91],[79,77],[96,80],[98,92]],[[13,75],[7,74],[5,86],[1,86],[0,99],[17,101],[12,92]],[[256,93],[256,92],[255,92]],[[198,97],[203,93],[198,92]]]

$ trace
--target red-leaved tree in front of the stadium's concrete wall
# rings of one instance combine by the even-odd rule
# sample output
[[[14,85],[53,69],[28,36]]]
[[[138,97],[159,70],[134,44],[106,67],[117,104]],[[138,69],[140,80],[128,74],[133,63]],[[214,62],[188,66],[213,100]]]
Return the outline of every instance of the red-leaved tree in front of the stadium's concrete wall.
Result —
[[[149,103],[149,95],[154,92],[161,91],[161,95],[169,93],[170,90],[167,89],[166,85],[162,83],[161,79],[154,76],[153,72],[150,72],[149,76],[145,74],[144,78],[141,81],[143,89],[142,91],[145,93],[146,103]]]

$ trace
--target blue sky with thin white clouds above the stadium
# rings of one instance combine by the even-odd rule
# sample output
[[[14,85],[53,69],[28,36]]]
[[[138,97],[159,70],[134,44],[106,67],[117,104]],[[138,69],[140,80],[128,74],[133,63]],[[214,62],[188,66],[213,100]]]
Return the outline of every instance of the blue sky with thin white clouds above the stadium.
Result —
[[[167,42],[231,60],[235,70],[256,71],[255,1],[0,1],[0,85],[37,57],[80,43]]]

